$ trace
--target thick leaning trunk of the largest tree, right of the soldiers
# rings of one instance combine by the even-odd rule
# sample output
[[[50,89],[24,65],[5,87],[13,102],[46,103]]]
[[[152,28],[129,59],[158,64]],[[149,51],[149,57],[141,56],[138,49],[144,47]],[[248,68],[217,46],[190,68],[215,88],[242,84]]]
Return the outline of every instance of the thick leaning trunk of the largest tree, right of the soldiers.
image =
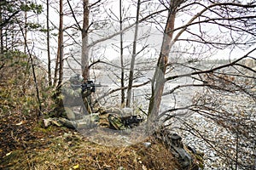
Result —
[[[158,116],[160,109],[160,101],[165,87],[166,64],[168,62],[169,53],[172,48],[172,30],[174,28],[175,16],[176,11],[174,10],[174,5],[171,1],[168,19],[166,22],[165,34],[161,45],[160,57],[158,59],[157,66],[154,71],[154,78],[152,80],[152,95],[148,106],[148,118],[151,121],[153,121],[154,118]]]

